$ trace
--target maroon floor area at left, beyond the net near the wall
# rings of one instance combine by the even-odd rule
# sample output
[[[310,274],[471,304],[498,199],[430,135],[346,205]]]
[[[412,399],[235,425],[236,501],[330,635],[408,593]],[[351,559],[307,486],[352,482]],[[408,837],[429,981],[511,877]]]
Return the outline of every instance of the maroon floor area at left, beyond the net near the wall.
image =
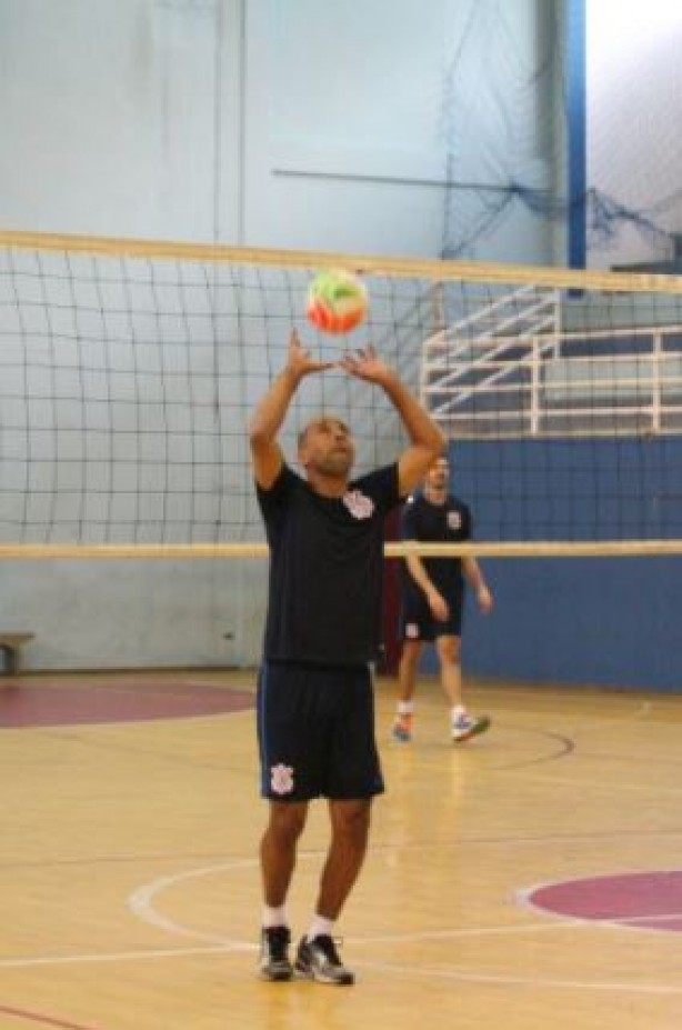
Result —
[[[0,687],[0,728],[141,722],[219,716],[253,708],[253,694],[161,678],[68,684],[13,681]]]

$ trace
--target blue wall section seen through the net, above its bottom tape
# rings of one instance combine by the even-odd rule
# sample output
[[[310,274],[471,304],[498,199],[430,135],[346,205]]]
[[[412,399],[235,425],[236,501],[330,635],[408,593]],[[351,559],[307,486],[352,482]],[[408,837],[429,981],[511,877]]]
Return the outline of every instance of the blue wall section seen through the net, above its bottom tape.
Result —
[[[682,536],[678,437],[459,442],[451,461],[480,540]]]

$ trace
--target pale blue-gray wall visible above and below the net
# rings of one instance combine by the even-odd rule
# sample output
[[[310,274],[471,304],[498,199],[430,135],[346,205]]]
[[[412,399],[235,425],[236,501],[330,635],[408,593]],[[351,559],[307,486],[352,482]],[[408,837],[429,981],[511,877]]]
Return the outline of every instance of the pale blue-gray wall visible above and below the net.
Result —
[[[499,11],[0,0],[0,227],[438,256],[449,70],[484,8]],[[503,11],[532,63],[546,50],[546,0]],[[482,72],[485,52],[469,63]],[[480,118],[492,138],[471,82],[469,131]],[[538,122],[531,107],[520,128],[549,169]],[[464,148],[461,171],[489,178],[488,157]],[[548,261],[554,246],[519,210],[472,256]],[[263,599],[254,561],[0,566],[0,626],[37,633],[30,668],[250,664]]]

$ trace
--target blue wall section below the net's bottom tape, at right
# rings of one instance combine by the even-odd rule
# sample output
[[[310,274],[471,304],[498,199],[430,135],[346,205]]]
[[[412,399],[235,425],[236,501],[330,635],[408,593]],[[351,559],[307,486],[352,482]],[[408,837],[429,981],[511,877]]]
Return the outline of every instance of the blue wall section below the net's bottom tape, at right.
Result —
[[[481,559],[495,609],[468,602],[464,671],[682,691],[682,558]]]

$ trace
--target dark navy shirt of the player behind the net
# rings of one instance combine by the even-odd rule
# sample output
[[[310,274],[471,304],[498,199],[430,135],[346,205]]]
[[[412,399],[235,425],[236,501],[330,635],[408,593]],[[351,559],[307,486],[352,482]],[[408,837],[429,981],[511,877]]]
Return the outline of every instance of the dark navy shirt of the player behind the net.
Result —
[[[408,500],[402,513],[401,536],[403,540],[422,543],[462,543],[471,539],[471,512],[467,504],[451,493],[443,504],[433,504],[418,493]],[[422,558],[429,579],[445,599],[453,591],[462,589],[462,561],[460,558]],[[403,561],[404,589],[421,593],[407,562]]]

